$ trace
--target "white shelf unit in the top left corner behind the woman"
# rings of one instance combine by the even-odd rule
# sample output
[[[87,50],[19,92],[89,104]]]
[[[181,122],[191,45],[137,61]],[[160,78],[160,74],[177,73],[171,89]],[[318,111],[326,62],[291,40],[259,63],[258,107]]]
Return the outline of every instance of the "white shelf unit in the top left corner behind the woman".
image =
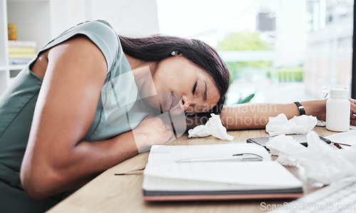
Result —
[[[0,95],[27,66],[9,65],[7,24],[16,24],[18,40],[36,41],[37,47],[41,48],[53,38],[52,27],[56,24],[53,24],[51,10],[54,5],[62,6],[61,1],[57,0],[0,0]],[[61,7],[61,11],[66,8]],[[61,23],[63,14],[57,13],[58,23]]]

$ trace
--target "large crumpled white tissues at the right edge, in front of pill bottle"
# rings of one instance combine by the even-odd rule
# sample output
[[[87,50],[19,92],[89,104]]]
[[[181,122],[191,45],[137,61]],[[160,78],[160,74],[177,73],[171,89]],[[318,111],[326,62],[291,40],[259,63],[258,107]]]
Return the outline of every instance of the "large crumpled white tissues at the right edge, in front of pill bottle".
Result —
[[[356,147],[337,150],[314,131],[307,135],[308,147],[293,137],[278,135],[266,143],[272,155],[278,155],[282,165],[303,167],[305,177],[329,185],[331,182],[356,175]]]

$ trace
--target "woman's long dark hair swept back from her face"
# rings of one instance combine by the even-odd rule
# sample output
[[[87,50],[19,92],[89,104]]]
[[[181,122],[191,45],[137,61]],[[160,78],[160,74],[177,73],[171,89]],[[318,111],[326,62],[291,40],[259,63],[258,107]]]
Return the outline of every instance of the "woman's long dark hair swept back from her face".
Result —
[[[198,116],[220,114],[225,103],[226,92],[229,88],[229,70],[215,49],[197,39],[179,38],[174,36],[154,35],[145,38],[129,38],[119,36],[122,50],[129,56],[143,61],[161,61],[172,57],[172,51],[194,63],[195,66],[208,72],[215,80],[220,92],[219,102],[209,112],[199,113]]]

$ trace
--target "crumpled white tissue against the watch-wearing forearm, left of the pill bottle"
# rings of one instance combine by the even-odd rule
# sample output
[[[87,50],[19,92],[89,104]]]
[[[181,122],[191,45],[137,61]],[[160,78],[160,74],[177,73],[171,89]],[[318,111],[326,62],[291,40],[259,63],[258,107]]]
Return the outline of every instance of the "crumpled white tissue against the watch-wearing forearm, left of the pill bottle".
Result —
[[[300,115],[294,116],[294,118],[288,120],[284,113],[277,115],[276,117],[269,117],[266,125],[266,132],[271,135],[283,135],[283,134],[306,134],[310,130],[313,130],[318,119],[312,115]]]

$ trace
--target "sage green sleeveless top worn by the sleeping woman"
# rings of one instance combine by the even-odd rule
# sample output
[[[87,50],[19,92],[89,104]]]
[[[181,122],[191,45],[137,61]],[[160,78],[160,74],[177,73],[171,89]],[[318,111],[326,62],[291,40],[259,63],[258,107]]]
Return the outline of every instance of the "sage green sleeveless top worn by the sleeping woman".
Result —
[[[108,65],[95,118],[84,140],[107,140],[130,131],[150,113],[150,108],[137,100],[130,64],[112,26],[105,21],[87,21],[68,29],[49,42],[0,97],[0,212],[43,212],[66,197],[59,194],[31,199],[21,189],[19,171],[42,85],[42,79],[30,67],[41,52],[78,34],[87,36],[100,48]]]

